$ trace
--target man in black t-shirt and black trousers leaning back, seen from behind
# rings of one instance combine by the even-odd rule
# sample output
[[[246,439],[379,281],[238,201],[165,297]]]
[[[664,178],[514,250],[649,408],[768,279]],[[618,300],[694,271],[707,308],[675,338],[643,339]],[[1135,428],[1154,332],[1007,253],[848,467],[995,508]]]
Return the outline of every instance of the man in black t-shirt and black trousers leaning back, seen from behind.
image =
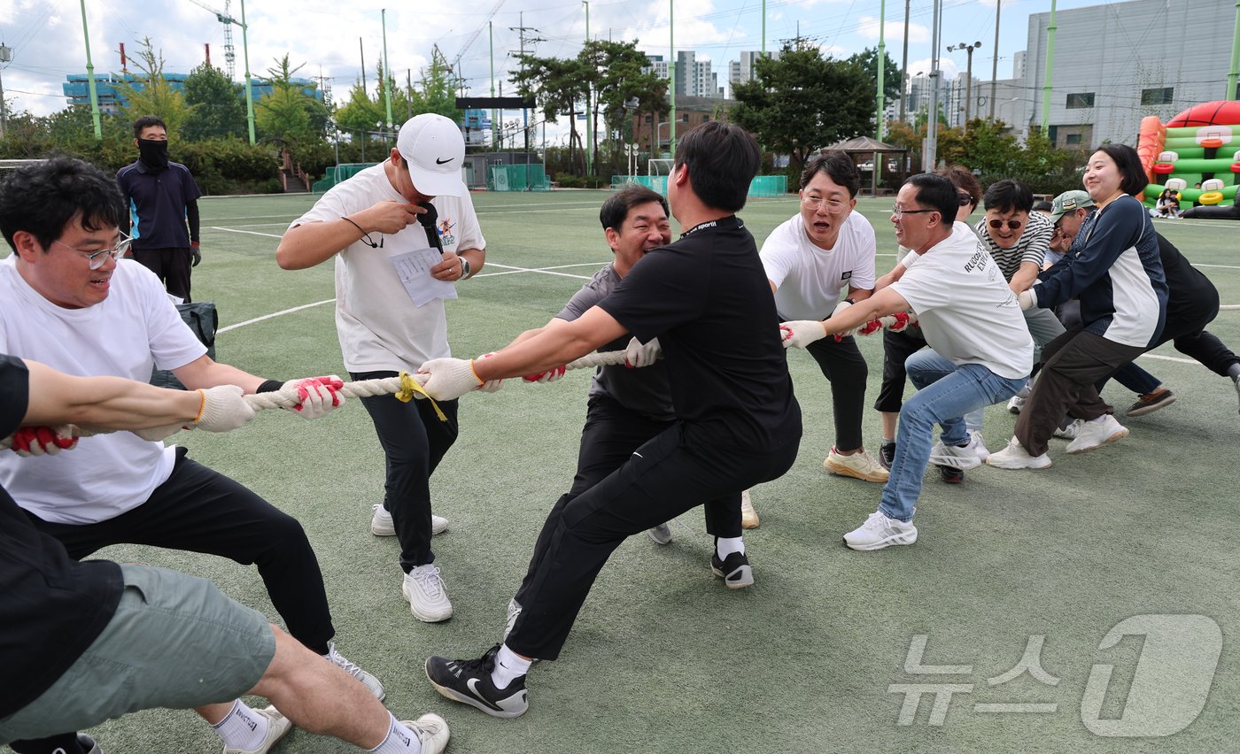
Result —
[[[758,142],[740,128],[709,121],[693,129],[668,176],[672,214],[687,228],[678,241],[649,251],[606,298],[563,327],[486,359],[433,359],[419,370],[427,392],[446,400],[565,364],[626,334],[647,344],[658,338],[676,412],[619,469],[556,505],[542,535],[546,555],[502,645],[479,660],[427,660],[427,676],[445,697],[495,717],[522,714],[531,661],[559,655],[594,578],[625,537],[703,501],[739,503],[740,490],[792,466],[801,410],[758,248],[734,214],[758,166]],[[720,542],[712,568],[728,573],[743,545],[724,552]]]

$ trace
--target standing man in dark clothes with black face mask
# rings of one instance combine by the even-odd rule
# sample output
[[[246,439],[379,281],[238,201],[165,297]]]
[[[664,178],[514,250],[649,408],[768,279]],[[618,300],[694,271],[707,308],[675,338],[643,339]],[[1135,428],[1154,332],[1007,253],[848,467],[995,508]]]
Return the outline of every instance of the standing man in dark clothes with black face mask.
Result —
[[[167,292],[190,302],[190,267],[198,266],[198,184],[190,170],[167,160],[167,128],[154,115],[134,121],[138,161],[117,171],[129,202],[131,254],[164,282]],[[188,233],[186,224],[188,223]]]

